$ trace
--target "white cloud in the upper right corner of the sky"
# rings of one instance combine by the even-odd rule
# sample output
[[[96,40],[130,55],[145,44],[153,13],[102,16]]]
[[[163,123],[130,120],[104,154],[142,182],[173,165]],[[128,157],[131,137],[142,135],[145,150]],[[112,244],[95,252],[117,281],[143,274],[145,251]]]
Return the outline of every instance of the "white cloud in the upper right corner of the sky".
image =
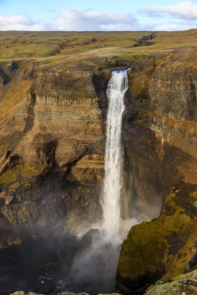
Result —
[[[166,15],[178,19],[196,19],[197,18],[197,1],[182,1],[175,5],[169,6],[149,6],[139,10],[148,17],[161,17]]]

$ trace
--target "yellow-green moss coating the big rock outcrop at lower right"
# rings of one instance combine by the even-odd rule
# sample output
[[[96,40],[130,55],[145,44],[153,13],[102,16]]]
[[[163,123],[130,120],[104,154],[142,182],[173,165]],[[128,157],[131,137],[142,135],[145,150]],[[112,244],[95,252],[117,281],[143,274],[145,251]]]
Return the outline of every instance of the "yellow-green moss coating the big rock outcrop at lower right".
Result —
[[[129,231],[127,239],[123,241],[118,261],[121,277],[131,281],[142,276],[151,277],[159,265],[164,279],[169,279],[172,273],[183,273],[185,262],[191,255],[189,248],[197,236],[196,220],[183,213],[183,208],[175,201],[175,194],[170,194],[166,204],[176,209],[173,215],[167,215],[164,210],[157,221],[142,222]],[[190,237],[183,248],[172,255],[169,238],[174,235],[177,239],[182,236]]]

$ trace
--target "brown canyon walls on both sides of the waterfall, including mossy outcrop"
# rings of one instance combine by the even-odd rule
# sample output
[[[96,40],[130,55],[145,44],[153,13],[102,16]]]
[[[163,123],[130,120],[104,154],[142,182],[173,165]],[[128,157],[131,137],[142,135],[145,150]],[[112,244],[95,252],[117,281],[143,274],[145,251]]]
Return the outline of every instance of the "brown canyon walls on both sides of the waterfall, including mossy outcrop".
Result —
[[[0,62],[1,248],[101,219],[106,89],[112,71],[131,67],[121,217],[139,224],[121,246],[116,289],[143,294],[160,278],[195,271],[196,48]]]

